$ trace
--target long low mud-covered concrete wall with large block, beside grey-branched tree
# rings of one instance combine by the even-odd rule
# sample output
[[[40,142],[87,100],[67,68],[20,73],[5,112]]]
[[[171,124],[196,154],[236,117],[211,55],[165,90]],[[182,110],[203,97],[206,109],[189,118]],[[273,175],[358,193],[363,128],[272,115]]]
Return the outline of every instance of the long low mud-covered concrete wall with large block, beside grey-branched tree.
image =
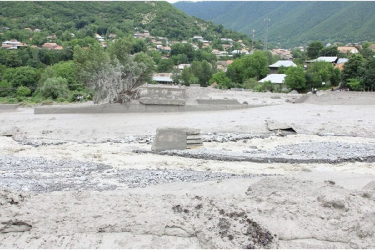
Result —
[[[193,87],[202,88],[203,87]],[[54,105],[35,107],[34,114],[50,113],[144,113],[179,111],[214,111],[264,105],[241,104],[234,98],[195,98],[187,100],[186,87],[144,84],[136,90],[135,99],[120,104]]]

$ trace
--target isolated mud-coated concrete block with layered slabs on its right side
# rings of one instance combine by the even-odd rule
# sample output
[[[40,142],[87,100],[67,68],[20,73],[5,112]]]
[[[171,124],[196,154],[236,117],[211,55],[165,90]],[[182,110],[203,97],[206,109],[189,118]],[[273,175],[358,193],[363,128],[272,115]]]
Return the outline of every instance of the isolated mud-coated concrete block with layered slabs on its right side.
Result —
[[[189,135],[188,135],[189,134]],[[200,130],[186,127],[157,128],[152,151],[183,150],[202,146]]]

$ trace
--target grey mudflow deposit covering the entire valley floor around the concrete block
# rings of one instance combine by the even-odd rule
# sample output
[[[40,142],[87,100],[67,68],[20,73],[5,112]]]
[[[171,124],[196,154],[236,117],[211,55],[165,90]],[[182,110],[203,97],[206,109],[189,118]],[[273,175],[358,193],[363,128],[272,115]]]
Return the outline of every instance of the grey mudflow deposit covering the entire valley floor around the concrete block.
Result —
[[[185,90],[183,111],[2,105],[0,248],[375,248],[374,93]],[[203,146],[152,151],[162,127]]]

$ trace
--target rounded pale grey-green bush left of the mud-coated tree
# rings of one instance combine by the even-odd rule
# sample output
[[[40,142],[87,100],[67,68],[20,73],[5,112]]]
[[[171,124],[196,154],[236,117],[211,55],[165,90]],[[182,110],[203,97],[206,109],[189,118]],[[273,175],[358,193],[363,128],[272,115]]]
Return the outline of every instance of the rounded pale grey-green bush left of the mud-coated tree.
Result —
[[[68,81],[62,77],[48,78],[40,87],[40,94],[45,98],[57,99],[66,96],[68,92]]]

